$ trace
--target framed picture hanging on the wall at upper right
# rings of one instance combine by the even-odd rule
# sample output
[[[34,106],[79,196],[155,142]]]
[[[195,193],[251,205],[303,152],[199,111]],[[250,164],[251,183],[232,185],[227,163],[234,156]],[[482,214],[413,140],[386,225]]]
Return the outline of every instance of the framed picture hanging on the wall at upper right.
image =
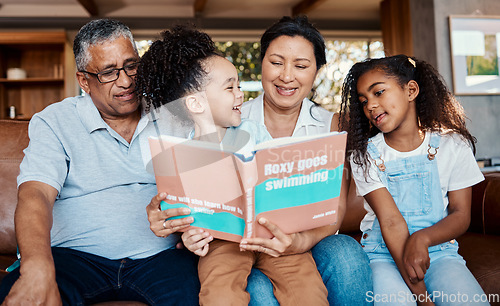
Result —
[[[500,16],[450,16],[455,95],[500,95]]]

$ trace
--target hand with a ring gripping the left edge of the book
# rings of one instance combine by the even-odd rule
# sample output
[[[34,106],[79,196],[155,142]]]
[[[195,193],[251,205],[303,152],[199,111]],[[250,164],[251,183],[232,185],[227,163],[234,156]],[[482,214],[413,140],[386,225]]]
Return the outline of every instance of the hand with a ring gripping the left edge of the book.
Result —
[[[161,210],[161,201],[165,200],[167,194],[162,192],[157,194],[151,199],[151,202],[146,207],[148,213],[149,228],[158,237],[168,237],[170,234],[179,231],[180,229],[188,227],[193,223],[193,217],[186,217],[182,219],[167,220],[168,218],[176,216],[189,215],[191,210],[189,208],[171,208]]]

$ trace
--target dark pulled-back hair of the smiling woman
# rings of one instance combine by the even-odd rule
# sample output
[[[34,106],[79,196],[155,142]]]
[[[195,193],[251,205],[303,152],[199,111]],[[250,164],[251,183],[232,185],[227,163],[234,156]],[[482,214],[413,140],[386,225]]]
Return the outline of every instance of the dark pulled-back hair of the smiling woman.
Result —
[[[285,16],[269,27],[260,38],[261,62],[271,42],[283,35],[290,37],[301,36],[307,39],[314,47],[316,69],[319,70],[326,64],[325,40],[319,31],[309,22],[307,16],[297,16],[294,18]]]

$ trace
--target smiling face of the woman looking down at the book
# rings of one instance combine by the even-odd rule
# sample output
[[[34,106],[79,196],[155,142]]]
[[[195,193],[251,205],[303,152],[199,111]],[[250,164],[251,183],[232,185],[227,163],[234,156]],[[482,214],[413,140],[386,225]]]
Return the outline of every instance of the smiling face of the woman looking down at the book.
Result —
[[[311,42],[302,36],[273,40],[262,60],[264,103],[275,109],[300,109],[316,77]]]

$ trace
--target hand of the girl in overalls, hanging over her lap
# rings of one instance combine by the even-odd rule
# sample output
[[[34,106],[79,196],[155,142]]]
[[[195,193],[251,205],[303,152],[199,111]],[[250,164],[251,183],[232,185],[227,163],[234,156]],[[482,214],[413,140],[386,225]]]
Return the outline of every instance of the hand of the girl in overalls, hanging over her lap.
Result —
[[[431,264],[429,245],[419,232],[413,233],[406,241],[403,251],[403,263],[410,282],[423,281],[425,273]]]

